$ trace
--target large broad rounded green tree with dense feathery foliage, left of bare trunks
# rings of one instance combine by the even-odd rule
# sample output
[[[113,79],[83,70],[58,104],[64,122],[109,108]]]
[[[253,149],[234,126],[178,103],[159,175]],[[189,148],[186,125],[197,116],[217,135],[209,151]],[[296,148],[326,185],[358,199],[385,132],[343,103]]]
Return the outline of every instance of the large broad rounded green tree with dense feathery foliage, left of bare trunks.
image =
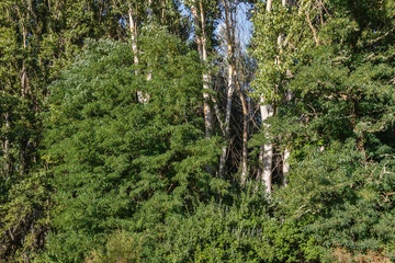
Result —
[[[214,193],[199,57],[160,27],[143,30],[138,45],[136,67],[128,45],[91,43],[52,88],[46,137],[58,206],[48,261],[80,261],[120,228],[160,236],[168,216]],[[149,68],[149,81],[134,73]],[[149,103],[138,103],[137,90]]]

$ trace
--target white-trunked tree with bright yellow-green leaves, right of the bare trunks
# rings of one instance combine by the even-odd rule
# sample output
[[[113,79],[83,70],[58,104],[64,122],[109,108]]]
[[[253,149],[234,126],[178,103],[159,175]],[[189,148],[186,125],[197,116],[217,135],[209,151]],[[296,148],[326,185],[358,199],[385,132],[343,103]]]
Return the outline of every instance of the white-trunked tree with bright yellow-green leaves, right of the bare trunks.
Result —
[[[295,3],[297,2],[297,4]],[[266,5],[264,5],[266,4]],[[267,1],[260,3],[255,15],[255,37],[252,53],[258,62],[256,79],[252,83],[252,96],[261,103],[263,139],[260,152],[260,180],[267,185],[267,193],[272,190],[273,174],[282,174],[282,184],[286,184],[285,173],[289,171],[287,158],[290,145],[276,146],[274,141],[287,141],[286,128],[271,134],[270,118],[283,114],[283,104],[292,103],[293,93],[289,82],[294,77],[295,61],[314,46],[311,41],[316,34],[316,24],[311,16],[323,15],[324,3],[320,1]],[[266,10],[266,11],[264,11]],[[315,21],[320,23],[320,21]],[[279,132],[279,130],[276,130]],[[275,156],[283,153],[280,156]],[[275,160],[275,161],[274,161]],[[279,163],[282,163],[282,169]]]

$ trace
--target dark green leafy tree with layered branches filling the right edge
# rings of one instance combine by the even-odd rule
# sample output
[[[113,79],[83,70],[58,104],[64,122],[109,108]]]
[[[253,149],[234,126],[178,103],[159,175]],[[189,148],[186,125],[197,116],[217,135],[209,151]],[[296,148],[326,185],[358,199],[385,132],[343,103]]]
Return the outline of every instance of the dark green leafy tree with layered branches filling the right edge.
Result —
[[[292,103],[278,104],[270,121],[271,141],[293,148],[290,184],[278,197],[290,220],[311,220],[305,232],[321,261],[339,253],[384,261],[393,256],[382,231],[393,231],[394,9],[323,4],[321,18],[304,14],[314,42],[292,61]]]

